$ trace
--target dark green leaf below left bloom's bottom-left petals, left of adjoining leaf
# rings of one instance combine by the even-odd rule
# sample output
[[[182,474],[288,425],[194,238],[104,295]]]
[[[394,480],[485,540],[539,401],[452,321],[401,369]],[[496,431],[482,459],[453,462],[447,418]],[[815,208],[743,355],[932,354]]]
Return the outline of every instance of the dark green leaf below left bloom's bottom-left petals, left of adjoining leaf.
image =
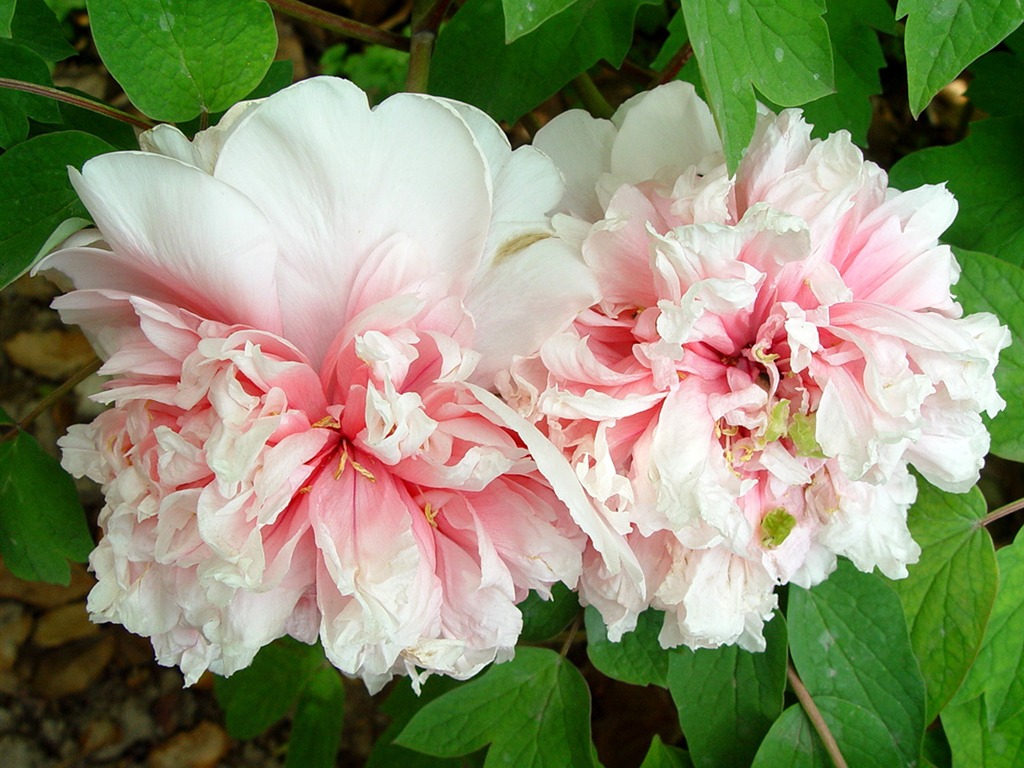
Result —
[[[246,669],[217,678],[214,692],[228,733],[252,738],[285,717],[323,658],[318,646],[279,640],[263,646]]]

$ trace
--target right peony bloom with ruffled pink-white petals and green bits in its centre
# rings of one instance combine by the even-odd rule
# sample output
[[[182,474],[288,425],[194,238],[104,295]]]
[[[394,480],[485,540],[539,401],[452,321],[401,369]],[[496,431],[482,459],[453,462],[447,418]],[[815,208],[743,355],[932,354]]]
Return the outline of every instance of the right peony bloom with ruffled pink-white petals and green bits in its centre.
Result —
[[[988,447],[979,413],[1009,333],[962,316],[940,186],[899,193],[846,133],[759,117],[735,176],[708,108],[672,83],[612,120],[555,118],[555,226],[600,299],[502,388],[626,538],[642,580],[585,555],[581,593],[617,639],[667,611],[665,646],[764,646],[774,587],[836,566],[906,574],[913,466],[954,492]]]

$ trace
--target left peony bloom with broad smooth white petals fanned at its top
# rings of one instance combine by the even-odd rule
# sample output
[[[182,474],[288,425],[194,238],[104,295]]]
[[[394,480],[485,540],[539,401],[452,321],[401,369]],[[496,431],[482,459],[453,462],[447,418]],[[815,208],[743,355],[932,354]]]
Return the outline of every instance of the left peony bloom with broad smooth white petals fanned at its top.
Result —
[[[579,578],[545,451],[620,567],[486,391],[596,297],[551,237],[547,158],[465,104],[372,111],[334,79],[141,145],[72,172],[96,228],[40,265],[114,377],[61,443],[106,499],[95,621],[188,683],[286,634],[374,690],[467,677],[511,655],[528,590]]]

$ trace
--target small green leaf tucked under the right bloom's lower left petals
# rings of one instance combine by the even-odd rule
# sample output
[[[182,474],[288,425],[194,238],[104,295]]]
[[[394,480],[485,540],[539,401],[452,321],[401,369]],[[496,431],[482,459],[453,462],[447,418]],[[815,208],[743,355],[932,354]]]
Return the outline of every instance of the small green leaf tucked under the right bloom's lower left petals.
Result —
[[[669,685],[669,651],[657,642],[665,613],[655,608],[637,618],[637,628],[623,635],[617,643],[608,640],[600,612],[588,606],[587,655],[608,677],[633,685]]]

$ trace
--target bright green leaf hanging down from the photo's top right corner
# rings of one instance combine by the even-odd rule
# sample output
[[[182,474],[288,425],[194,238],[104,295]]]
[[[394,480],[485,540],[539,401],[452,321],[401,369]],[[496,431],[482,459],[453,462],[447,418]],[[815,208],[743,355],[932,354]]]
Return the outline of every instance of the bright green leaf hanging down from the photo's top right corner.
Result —
[[[899,0],[906,16],[910,111],[918,117],[932,96],[974,59],[1021,26],[1020,0]]]

